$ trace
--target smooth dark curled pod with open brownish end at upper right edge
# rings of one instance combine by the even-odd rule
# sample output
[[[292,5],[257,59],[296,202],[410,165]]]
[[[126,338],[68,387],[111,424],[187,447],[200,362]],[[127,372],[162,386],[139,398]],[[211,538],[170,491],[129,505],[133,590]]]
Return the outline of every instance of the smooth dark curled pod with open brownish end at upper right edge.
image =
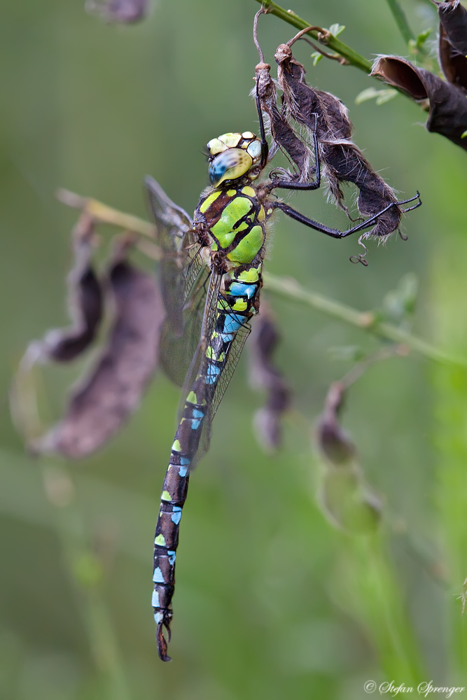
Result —
[[[463,90],[398,56],[379,56],[371,74],[404,90],[412,99],[428,99],[427,130],[442,134],[467,151],[467,140],[462,139],[467,130],[467,99]]]

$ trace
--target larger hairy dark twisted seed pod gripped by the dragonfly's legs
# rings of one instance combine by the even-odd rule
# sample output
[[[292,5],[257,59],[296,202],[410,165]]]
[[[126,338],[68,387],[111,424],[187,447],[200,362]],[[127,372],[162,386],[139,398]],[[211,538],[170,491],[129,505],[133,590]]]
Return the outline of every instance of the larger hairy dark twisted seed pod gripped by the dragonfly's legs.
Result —
[[[275,54],[278,65],[277,82],[283,91],[287,119],[293,118],[306,127],[309,138],[316,129],[323,176],[330,193],[348,214],[341,183],[349,182],[358,188],[358,211],[370,217],[397,202],[392,188],[372,169],[359,148],[350,140],[352,125],[344,104],[330,92],[315,90],[305,82],[305,68],[295,60],[290,45],[281,44]],[[391,207],[379,216],[377,223],[363,237],[384,239],[400,224],[399,207]]]

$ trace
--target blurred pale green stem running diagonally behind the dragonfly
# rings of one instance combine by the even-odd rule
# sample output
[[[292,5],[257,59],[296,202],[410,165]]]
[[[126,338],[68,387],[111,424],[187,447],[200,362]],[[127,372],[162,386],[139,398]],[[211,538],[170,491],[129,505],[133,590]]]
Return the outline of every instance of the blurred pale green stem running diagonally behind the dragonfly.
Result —
[[[69,207],[76,207],[77,209],[81,209],[81,211],[92,214],[97,222],[109,223],[151,239],[155,237],[155,226],[138,216],[125,214],[123,211],[108,207],[106,204],[102,204],[102,202],[94,200],[91,197],[81,197],[68,190],[58,190],[57,197],[61,202],[64,202],[64,204],[68,204]],[[140,249],[141,252],[146,252],[144,246],[140,246]],[[157,259],[160,257],[160,249],[158,246],[153,244],[151,250],[153,251],[151,258]],[[439,350],[425,340],[405,330],[401,330],[396,325],[379,321],[377,314],[373,311],[358,311],[358,309],[352,309],[346,304],[341,304],[333,299],[328,299],[328,297],[323,297],[316,292],[305,289],[292,278],[279,277],[270,274],[270,272],[265,272],[263,273],[263,279],[265,289],[274,293],[307,304],[309,307],[312,307],[312,309],[323,311],[324,314],[328,314],[328,316],[332,318],[345,321],[345,323],[355,325],[357,328],[363,328],[378,337],[406,345],[410,349],[424,355],[426,358],[435,360],[435,362],[445,365],[467,367],[467,360],[455,358],[449,355],[449,353]]]

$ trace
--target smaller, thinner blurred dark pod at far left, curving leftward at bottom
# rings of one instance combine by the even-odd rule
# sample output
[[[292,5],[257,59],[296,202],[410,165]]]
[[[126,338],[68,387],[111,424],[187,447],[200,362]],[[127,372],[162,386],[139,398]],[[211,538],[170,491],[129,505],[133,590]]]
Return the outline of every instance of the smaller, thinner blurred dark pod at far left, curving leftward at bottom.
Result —
[[[102,289],[91,264],[94,222],[82,214],[71,234],[74,266],[67,278],[72,325],[49,330],[29,345],[23,362],[71,362],[88,349],[102,320]]]

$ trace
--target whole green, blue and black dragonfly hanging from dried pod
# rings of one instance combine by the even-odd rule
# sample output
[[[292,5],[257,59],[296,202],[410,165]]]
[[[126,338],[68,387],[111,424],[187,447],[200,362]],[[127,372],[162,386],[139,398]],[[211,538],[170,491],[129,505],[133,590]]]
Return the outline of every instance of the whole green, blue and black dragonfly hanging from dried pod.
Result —
[[[170,661],[167,643],[172,622],[176,549],[188,481],[209,448],[211,423],[258,314],[268,228],[279,209],[305,226],[337,239],[375,225],[392,207],[410,211],[415,197],[391,202],[375,216],[348,230],[330,228],[282,202],[274,190],[316,190],[321,184],[317,118],[312,136],[314,169],[309,182],[293,181],[284,169],[260,176],[267,167],[268,145],[258,88],[260,137],[253,132],[222,134],[207,144],[210,186],[193,219],[174,204],[151,177],[146,188],[162,250],[160,284],[166,318],[160,339],[160,363],[183,386],[179,426],[162,486],[155,528],[152,605],[158,654]],[[417,200],[412,207],[401,205]]]

